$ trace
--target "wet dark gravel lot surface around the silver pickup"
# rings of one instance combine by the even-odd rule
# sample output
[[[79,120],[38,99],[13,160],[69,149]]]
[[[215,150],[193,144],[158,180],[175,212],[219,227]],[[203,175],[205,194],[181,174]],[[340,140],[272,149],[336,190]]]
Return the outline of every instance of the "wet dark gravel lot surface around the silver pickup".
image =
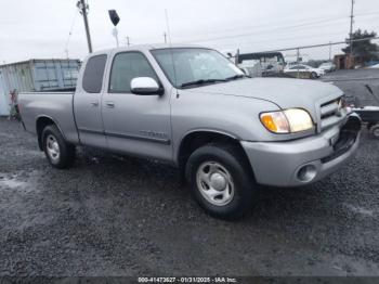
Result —
[[[325,79],[367,103],[368,75]],[[339,172],[261,189],[251,215],[225,222],[175,169],[80,149],[74,168],[55,170],[35,137],[0,119],[0,275],[379,275],[378,191],[379,141],[364,130]]]

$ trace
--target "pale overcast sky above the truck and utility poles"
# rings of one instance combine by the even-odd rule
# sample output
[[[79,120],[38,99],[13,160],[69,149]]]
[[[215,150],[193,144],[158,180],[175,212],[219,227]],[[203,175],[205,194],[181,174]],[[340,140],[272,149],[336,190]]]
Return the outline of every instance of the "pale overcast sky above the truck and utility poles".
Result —
[[[0,63],[66,57],[66,48],[70,57],[86,56],[83,21],[76,2],[0,0]],[[379,1],[355,2],[354,26],[378,33]],[[167,9],[172,42],[254,52],[343,40],[349,34],[351,0],[89,0],[89,5],[94,50],[116,44],[109,9],[121,17],[121,44],[127,36],[132,44],[164,42]],[[332,53],[340,53],[340,48],[334,47]],[[302,54],[327,59],[329,50]]]

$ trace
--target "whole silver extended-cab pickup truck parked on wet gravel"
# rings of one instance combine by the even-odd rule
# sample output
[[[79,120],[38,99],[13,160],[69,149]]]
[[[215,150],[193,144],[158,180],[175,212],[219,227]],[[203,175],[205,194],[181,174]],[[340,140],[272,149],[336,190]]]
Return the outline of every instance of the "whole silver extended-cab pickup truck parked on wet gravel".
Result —
[[[341,168],[361,120],[340,89],[318,81],[248,78],[194,46],[100,51],[76,91],[21,93],[24,127],[55,168],[86,145],[180,168],[210,215],[239,218],[258,184],[299,186]]]

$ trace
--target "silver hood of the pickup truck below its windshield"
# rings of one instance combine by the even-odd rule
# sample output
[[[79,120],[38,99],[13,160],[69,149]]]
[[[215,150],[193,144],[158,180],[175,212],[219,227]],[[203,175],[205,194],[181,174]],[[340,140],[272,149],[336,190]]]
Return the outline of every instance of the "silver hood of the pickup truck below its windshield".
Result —
[[[343,93],[331,83],[287,78],[248,78],[204,86],[185,91],[252,98],[272,102],[280,108],[300,107],[316,118],[316,107]]]

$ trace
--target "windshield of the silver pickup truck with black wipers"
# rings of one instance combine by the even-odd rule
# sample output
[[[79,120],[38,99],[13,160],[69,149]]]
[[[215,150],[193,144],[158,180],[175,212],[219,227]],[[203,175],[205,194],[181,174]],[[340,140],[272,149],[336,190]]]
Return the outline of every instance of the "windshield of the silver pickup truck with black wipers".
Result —
[[[153,50],[152,53],[175,88],[196,88],[245,77],[238,67],[214,50],[173,48]]]

